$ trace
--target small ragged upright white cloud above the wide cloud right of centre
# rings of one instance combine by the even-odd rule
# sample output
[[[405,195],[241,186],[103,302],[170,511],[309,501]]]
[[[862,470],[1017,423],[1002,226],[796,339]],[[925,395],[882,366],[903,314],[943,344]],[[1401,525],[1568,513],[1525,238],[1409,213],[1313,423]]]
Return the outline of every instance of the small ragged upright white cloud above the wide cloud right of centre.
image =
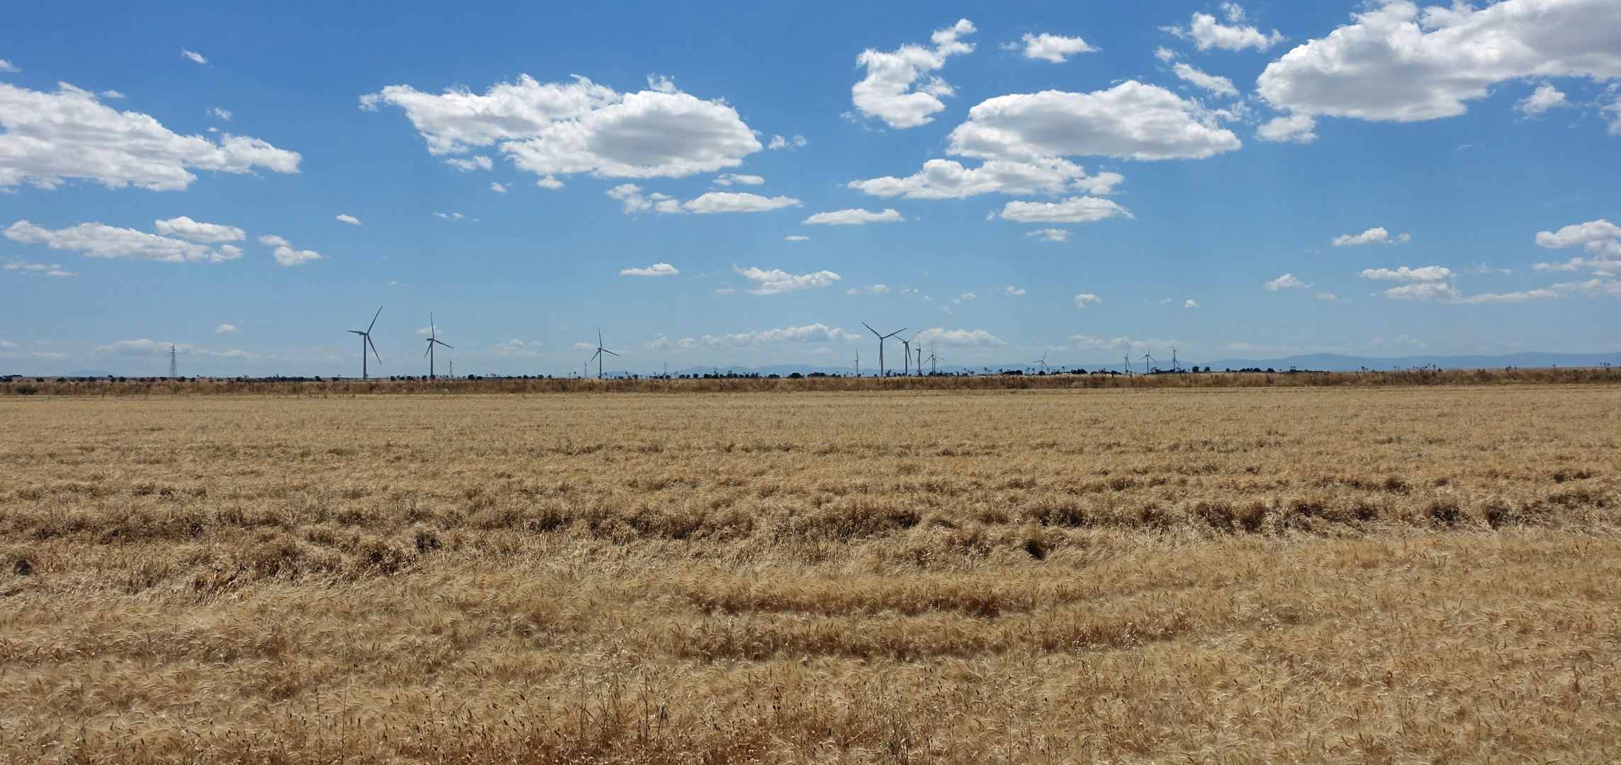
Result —
[[[849,89],[856,109],[892,128],[916,128],[934,122],[929,115],[945,109],[940,96],[952,96],[953,91],[929,73],[945,66],[950,55],[973,52],[973,44],[958,41],[973,32],[974,24],[964,18],[947,29],[937,29],[930,37],[932,49],[906,44],[890,52],[864,50],[856,63],[867,68],[867,76]],[[919,84],[917,79],[924,76],[927,79]]]

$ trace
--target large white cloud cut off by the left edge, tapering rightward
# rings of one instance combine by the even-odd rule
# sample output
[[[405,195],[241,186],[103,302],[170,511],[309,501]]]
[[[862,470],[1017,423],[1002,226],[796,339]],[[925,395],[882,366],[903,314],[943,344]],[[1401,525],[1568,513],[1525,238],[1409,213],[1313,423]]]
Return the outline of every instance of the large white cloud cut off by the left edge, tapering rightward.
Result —
[[[139,112],[118,112],[94,92],[58,83],[57,92],[0,83],[0,188],[19,182],[55,188],[89,178],[107,188],[186,188],[186,169],[245,173],[264,167],[298,172],[300,156],[258,138],[222,135],[219,143],[182,136]]]

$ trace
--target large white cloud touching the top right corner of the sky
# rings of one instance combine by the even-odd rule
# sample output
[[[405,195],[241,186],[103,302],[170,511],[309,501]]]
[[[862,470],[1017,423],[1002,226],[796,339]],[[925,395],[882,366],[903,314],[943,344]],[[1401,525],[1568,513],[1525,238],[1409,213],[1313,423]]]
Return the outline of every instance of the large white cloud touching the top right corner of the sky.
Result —
[[[1386,0],[1269,63],[1256,91],[1302,115],[1418,122],[1461,115],[1493,84],[1532,76],[1621,76],[1621,3]]]

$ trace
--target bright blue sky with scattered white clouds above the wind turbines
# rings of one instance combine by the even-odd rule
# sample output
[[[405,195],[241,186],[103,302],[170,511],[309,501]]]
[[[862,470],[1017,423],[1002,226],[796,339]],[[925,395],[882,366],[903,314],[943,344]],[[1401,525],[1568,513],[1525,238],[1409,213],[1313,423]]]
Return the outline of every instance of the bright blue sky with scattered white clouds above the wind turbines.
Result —
[[[1615,2],[13,2],[0,62],[0,373],[358,374],[379,305],[373,374],[430,311],[501,374],[1621,350]]]

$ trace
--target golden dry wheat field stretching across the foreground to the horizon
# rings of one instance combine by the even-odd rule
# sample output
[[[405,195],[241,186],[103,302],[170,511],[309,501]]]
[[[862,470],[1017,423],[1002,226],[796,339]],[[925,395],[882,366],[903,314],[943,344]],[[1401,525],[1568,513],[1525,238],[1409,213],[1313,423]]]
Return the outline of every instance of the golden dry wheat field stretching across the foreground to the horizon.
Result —
[[[0,762],[1616,762],[1621,387],[0,399]]]

